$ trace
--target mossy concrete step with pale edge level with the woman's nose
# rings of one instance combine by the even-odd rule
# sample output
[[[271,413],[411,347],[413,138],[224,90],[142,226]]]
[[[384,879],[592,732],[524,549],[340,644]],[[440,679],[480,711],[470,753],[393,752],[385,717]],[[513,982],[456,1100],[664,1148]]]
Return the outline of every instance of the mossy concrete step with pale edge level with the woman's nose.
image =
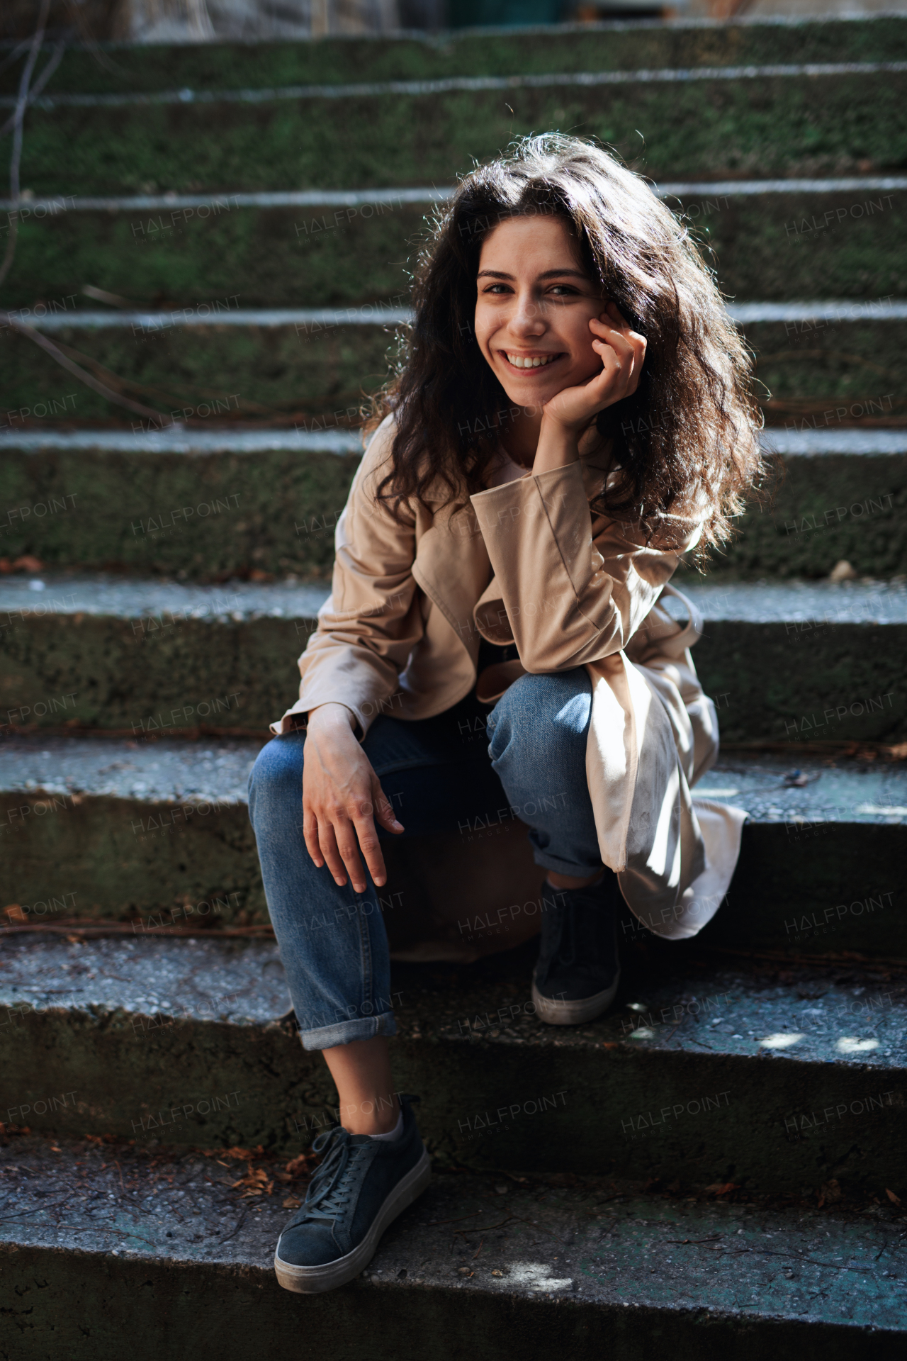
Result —
[[[793,248],[791,248],[793,249]],[[374,310],[243,310],[238,282],[204,305],[132,320],[122,312],[67,310],[26,317],[114,391],[158,415],[129,416],[27,336],[7,333],[3,429],[29,423],[116,422],[156,430],[167,421],[253,419],[305,429],[359,425],[363,400],[389,374],[405,293],[373,297]],[[57,306],[57,310],[53,310]],[[768,425],[827,430],[903,419],[907,321],[903,299],[734,302],[771,396]],[[135,327],[135,329],[133,329]],[[843,414],[839,408],[843,407]],[[35,411],[38,415],[35,416]]]

